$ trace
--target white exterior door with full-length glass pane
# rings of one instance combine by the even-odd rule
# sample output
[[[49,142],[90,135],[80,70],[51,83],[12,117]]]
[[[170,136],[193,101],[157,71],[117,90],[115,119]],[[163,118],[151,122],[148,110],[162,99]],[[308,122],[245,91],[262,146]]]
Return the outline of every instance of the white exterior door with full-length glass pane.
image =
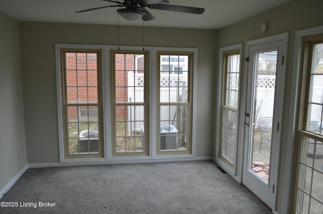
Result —
[[[275,208],[287,34],[247,42],[242,183]]]

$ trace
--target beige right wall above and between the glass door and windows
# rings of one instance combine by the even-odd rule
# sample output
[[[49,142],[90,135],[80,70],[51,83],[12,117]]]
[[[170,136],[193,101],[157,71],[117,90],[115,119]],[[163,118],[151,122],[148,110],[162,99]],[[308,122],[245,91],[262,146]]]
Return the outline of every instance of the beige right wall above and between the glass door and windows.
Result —
[[[243,43],[243,58],[245,58],[245,42],[252,39],[262,38],[284,32],[289,32],[289,49],[288,49],[288,65],[286,74],[286,90],[285,90],[285,107],[283,118],[283,137],[282,147],[280,154],[280,174],[279,174],[279,186],[278,186],[278,202],[277,210],[279,213],[282,209],[282,195],[284,190],[284,176],[287,171],[285,169],[286,154],[287,154],[287,141],[288,141],[288,128],[289,113],[291,107],[291,95],[292,95],[292,75],[293,75],[293,57],[294,57],[294,45],[295,45],[295,32],[297,30],[311,28],[315,26],[323,25],[322,18],[323,2],[310,0],[292,0],[280,7],[258,14],[249,19],[235,23],[233,25],[222,28],[217,34],[217,54],[219,48]],[[268,23],[269,29],[266,33],[260,32],[261,23]],[[217,56],[219,59],[219,56]],[[244,72],[245,63],[243,61],[242,67]],[[217,69],[218,70],[218,69]],[[218,70],[219,72],[219,70]],[[217,74],[218,74],[217,72]]]

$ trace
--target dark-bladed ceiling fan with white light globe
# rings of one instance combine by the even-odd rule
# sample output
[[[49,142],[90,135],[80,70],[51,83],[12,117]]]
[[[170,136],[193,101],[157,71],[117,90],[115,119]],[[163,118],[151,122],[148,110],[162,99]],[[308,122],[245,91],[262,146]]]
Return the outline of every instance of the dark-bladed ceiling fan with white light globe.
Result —
[[[103,8],[121,7],[122,9],[118,9],[117,13],[120,14],[120,16],[122,16],[124,19],[129,21],[134,21],[141,18],[143,21],[149,21],[149,20],[155,19],[155,17],[151,13],[149,13],[146,8],[164,10],[164,11],[190,13],[190,14],[202,14],[204,12],[203,8],[165,5],[169,3],[166,0],[124,0],[123,2],[113,1],[113,0],[102,0],[102,1],[116,3],[117,5],[91,8],[87,10],[77,11],[75,13],[94,11],[94,10],[103,9]]]

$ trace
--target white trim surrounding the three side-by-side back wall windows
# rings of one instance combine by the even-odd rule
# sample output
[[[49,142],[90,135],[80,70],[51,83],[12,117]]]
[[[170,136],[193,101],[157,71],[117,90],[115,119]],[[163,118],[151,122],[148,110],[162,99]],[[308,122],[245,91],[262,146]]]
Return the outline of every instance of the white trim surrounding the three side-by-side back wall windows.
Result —
[[[73,48],[73,49],[100,49],[102,56],[102,97],[103,97],[103,148],[104,157],[102,158],[73,158],[68,159],[64,156],[64,136],[63,136],[63,111],[62,111],[62,91],[61,91],[61,60],[60,49]],[[157,51],[187,51],[193,52],[193,91],[192,91],[192,130],[191,130],[191,154],[184,155],[156,155],[156,92],[155,84],[149,84],[149,156],[129,156],[129,157],[113,157],[111,150],[111,98],[110,98],[110,49],[125,49],[125,50],[142,50],[140,46],[116,46],[116,45],[80,45],[80,44],[56,44],[56,77],[57,77],[57,107],[58,107],[58,134],[59,134],[59,153],[60,163],[70,163],[78,165],[78,163],[91,163],[91,164],[104,164],[109,162],[115,163],[133,163],[133,161],[151,162],[152,160],[190,160],[195,158],[196,147],[196,100],[197,100],[197,48],[174,48],[174,47],[145,47],[149,51],[149,82],[156,82],[156,56]]]

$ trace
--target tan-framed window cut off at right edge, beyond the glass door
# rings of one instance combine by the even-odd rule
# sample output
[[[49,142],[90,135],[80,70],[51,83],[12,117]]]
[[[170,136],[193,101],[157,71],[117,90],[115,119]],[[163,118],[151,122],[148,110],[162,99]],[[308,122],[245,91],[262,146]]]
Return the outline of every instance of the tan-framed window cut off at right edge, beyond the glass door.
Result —
[[[297,213],[323,211],[323,35],[305,37]]]

